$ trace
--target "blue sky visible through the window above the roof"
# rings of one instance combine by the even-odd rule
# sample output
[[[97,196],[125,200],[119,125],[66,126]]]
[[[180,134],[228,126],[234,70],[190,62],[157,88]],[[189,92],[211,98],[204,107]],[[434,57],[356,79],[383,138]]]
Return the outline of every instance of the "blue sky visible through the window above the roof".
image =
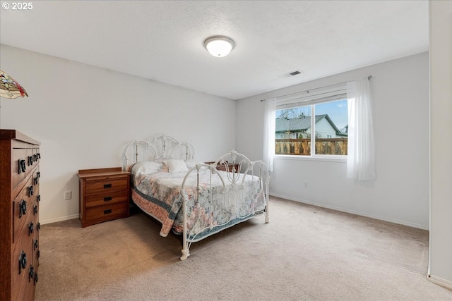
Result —
[[[348,112],[347,112],[347,99],[343,99],[336,102],[326,102],[323,104],[316,104],[316,115],[328,114],[333,123],[338,129],[345,128],[348,124]],[[294,109],[295,114],[298,116],[300,113],[304,113],[307,116],[311,115],[310,106],[304,106]],[[280,117],[281,111],[276,111],[276,117]],[[295,116],[293,116],[295,117]],[[292,118],[292,116],[290,116]]]

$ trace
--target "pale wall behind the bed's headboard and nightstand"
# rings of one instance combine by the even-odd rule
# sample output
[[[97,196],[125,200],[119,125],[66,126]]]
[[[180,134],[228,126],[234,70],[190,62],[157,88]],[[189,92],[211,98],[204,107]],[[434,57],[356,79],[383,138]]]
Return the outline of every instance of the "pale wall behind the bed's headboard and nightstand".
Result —
[[[0,128],[42,143],[42,223],[78,216],[78,169],[121,166],[132,140],[171,135],[204,161],[235,147],[230,99],[6,45],[0,52],[1,70],[30,96],[1,100]]]

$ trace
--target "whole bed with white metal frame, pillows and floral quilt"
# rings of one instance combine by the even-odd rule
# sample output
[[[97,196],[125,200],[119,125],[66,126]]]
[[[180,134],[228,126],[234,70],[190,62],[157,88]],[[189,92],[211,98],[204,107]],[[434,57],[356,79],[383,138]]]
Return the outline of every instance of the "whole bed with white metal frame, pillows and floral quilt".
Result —
[[[132,159],[131,159],[132,158]],[[212,164],[196,160],[194,147],[160,135],[135,140],[123,153],[131,171],[131,200],[160,221],[160,235],[182,235],[182,257],[193,242],[254,216],[268,219],[268,169],[234,150]]]

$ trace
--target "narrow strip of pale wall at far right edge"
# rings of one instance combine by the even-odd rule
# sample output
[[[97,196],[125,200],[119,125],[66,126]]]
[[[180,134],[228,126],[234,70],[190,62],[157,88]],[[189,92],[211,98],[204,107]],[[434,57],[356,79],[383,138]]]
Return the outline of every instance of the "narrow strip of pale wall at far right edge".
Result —
[[[429,279],[452,288],[452,2],[430,1]]]

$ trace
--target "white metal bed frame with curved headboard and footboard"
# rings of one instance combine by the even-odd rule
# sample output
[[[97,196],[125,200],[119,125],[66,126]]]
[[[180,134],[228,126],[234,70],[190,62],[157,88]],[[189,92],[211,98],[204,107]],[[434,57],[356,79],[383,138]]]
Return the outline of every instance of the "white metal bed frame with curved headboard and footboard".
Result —
[[[152,152],[148,154],[148,149]],[[178,152],[179,150],[179,152]],[[124,157],[124,170],[129,168],[132,164],[129,165],[129,154],[134,152],[135,161],[132,163],[136,163],[139,161],[147,161],[150,159],[194,159],[194,147],[188,142],[178,142],[176,139],[166,135],[160,135],[157,137],[153,137],[150,140],[135,140],[124,149],[123,157]],[[140,156],[141,155],[141,156]],[[229,164],[231,166],[236,166],[238,164],[238,170],[235,170],[233,167],[231,170],[229,168]],[[217,172],[217,167],[224,165],[225,170],[227,171],[226,176],[222,176]],[[191,173],[196,173],[197,185],[196,185],[196,202],[198,202],[198,192],[200,190],[199,186],[199,174],[201,171],[210,171],[210,199],[212,199],[212,177],[218,176],[222,183],[222,193],[224,193],[223,202],[225,204],[226,210],[230,213],[230,219],[226,223],[222,223],[220,225],[212,225],[197,229],[197,232],[194,233],[194,236],[191,236],[187,229],[187,202],[189,200],[189,195],[186,193],[185,185],[186,180],[189,178]],[[257,173],[256,175],[254,173]],[[256,177],[255,177],[256,176]],[[242,190],[244,188],[244,181],[246,178],[251,177],[251,180],[254,181],[256,179],[256,184],[258,185],[259,192],[264,192],[265,196],[265,209],[263,210],[254,210],[245,214],[244,216],[239,216],[239,212],[237,211],[237,202],[242,201],[243,195]],[[232,221],[232,219],[237,219],[237,223],[241,223],[248,219],[251,219],[256,214],[263,213],[265,215],[265,223],[269,223],[268,216],[268,184],[269,184],[269,175],[268,168],[263,161],[251,161],[244,154],[240,154],[234,150],[227,154],[220,156],[220,159],[215,161],[213,164],[196,164],[193,168],[190,168],[186,173],[184,180],[182,181],[181,195],[183,199],[182,210],[183,210],[183,233],[182,233],[182,257],[181,260],[185,260],[189,257],[190,252],[189,249],[191,247],[191,243],[197,242],[206,238],[210,235],[218,233],[213,231],[210,234],[204,236],[203,238],[197,239],[196,235],[201,233],[207,228],[212,230],[213,228],[218,228],[220,226],[225,226],[227,223]],[[254,182],[253,182],[254,183]],[[196,224],[199,222],[196,221]],[[230,226],[234,226],[234,223]],[[227,228],[229,228],[228,226]],[[220,231],[225,228],[220,229]],[[193,231],[193,230],[192,230]],[[192,237],[192,238],[190,238]]]

